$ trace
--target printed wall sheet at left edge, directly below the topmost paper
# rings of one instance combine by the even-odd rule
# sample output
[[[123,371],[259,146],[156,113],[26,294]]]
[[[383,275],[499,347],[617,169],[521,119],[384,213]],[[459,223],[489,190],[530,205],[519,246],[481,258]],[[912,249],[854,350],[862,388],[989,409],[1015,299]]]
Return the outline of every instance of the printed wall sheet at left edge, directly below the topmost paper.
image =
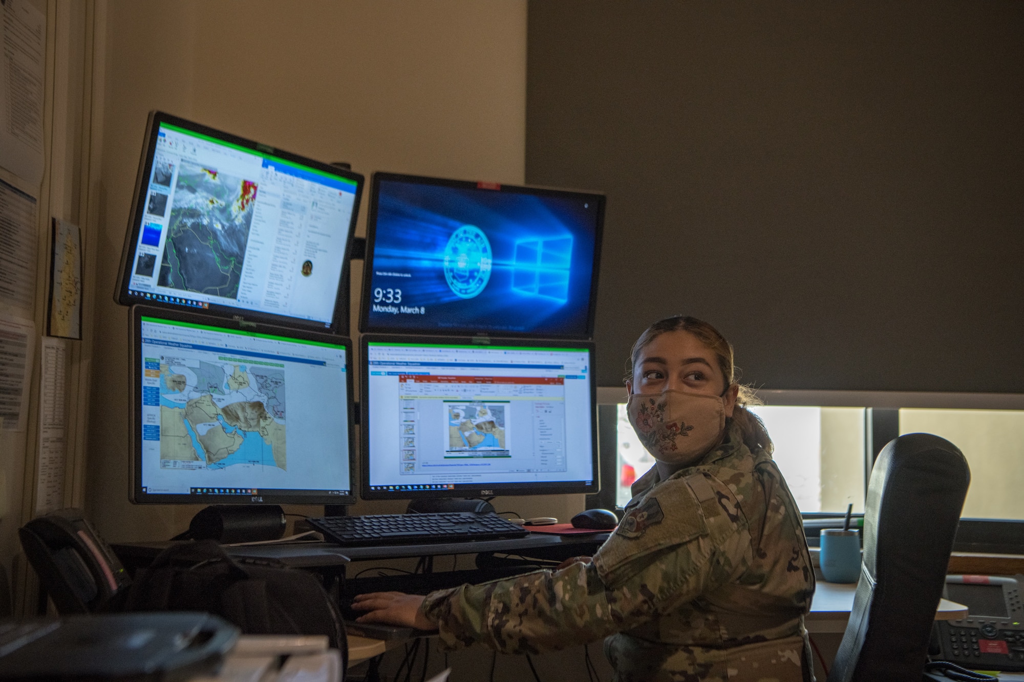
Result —
[[[32,317],[36,308],[36,200],[0,180],[0,307]]]

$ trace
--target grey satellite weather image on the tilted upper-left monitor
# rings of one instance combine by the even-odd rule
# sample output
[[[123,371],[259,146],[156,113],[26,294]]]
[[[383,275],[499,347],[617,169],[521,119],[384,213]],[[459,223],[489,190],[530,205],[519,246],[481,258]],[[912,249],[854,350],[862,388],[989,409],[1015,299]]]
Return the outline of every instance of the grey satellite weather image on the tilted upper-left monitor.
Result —
[[[252,180],[182,161],[158,284],[238,298],[256,189]]]

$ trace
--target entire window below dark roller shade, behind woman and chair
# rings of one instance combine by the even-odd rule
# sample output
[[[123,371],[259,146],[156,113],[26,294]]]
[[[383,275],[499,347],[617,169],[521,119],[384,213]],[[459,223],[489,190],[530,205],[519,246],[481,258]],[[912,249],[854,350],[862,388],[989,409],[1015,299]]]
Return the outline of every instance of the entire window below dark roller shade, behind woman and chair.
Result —
[[[608,397],[612,395],[609,392]],[[618,395],[622,393],[614,395],[616,402],[622,399]],[[940,399],[954,406],[966,402],[972,409],[915,407],[897,411],[893,407],[876,410],[873,428],[876,437],[882,437],[874,446],[881,447],[889,438],[905,433],[941,436],[959,447],[971,467],[971,487],[963,517],[979,519],[972,523],[983,524],[995,522],[985,519],[1024,519],[1024,410],[1017,409],[1020,400],[1013,396],[986,396],[983,404],[978,406],[1014,408],[1000,410],[975,408],[977,397],[914,393],[769,391],[766,399],[776,403],[820,400],[833,404],[864,400],[860,403],[877,406],[892,406],[895,400],[904,401],[904,404],[934,404]],[[630,485],[653,466],[654,459],[633,432],[626,406],[618,402],[617,408],[615,482],[616,503],[622,506],[630,500]],[[799,404],[760,406],[752,411],[764,421],[775,443],[773,459],[785,476],[801,512],[843,513],[851,503],[855,513],[863,512],[867,487],[864,476],[870,471],[868,451],[872,446],[865,442],[865,434],[871,432],[866,421],[871,419],[871,411]],[[884,418],[891,422],[879,422],[880,413],[891,414],[891,418]],[[961,530],[974,532],[971,528],[973,526],[962,524]],[[988,526],[979,528],[988,532]],[[974,542],[970,538],[965,540],[968,541]]]

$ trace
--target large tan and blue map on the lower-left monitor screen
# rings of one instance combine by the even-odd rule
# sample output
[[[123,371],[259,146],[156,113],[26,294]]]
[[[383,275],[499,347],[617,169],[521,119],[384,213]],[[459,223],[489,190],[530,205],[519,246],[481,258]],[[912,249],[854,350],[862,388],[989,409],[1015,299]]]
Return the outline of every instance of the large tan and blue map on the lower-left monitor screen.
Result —
[[[285,371],[162,358],[160,459],[211,469],[259,464],[287,471]]]

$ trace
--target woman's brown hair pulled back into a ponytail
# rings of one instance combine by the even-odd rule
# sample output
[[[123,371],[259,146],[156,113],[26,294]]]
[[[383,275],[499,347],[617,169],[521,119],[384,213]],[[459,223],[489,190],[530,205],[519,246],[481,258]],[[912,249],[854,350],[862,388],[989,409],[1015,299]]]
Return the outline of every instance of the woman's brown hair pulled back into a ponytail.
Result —
[[[626,380],[633,378],[633,368],[640,358],[640,352],[648,343],[666,332],[688,332],[700,340],[718,359],[718,367],[725,378],[726,388],[736,384],[739,392],[736,396],[736,406],[732,411],[732,421],[743,434],[743,443],[751,450],[763,450],[769,455],[775,450],[764,422],[746,409],[748,406],[762,404],[754,389],[736,382],[736,366],[733,363],[732,344],[725,340],[725,337],[717,329],[696,317],[687,315],[676,315],[666,317],[654,323],[640,335],[637,342],[633,344],[630,358],[626,364]]]

